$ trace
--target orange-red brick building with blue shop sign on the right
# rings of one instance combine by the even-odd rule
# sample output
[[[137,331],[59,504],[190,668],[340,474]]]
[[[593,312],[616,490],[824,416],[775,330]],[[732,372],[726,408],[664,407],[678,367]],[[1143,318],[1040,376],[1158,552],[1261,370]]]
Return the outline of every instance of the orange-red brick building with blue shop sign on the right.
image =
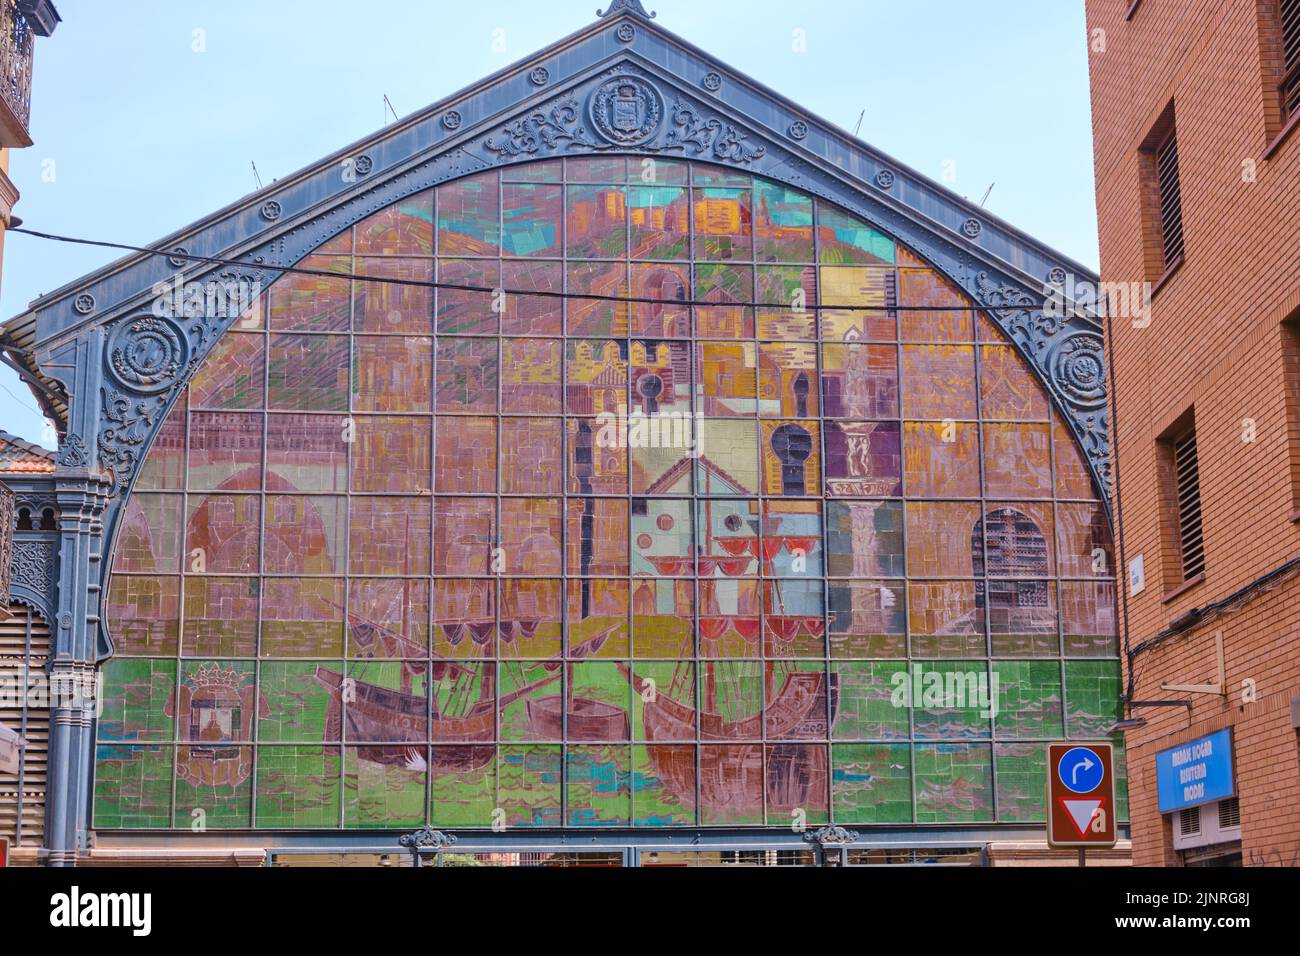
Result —
[[[1087,12],[1134,862],[1292,865],[1300,3]]]

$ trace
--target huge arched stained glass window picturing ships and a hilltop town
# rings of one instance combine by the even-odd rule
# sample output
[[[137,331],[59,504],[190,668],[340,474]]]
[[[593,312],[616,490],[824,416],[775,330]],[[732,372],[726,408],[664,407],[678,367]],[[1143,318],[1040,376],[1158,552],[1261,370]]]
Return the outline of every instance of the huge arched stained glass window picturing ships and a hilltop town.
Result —
[[[1084,460],[861,219],[602,156],[303,264],[116,529],[98,826],[1027,822],[1044,743],[1108,734]]]

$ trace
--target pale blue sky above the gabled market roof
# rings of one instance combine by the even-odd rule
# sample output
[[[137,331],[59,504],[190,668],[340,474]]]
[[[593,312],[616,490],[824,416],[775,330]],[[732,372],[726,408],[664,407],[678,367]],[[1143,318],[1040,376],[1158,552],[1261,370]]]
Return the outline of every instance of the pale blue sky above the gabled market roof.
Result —
[[[36,43],[36,144],[12,155],[16,212],[32,229],[151,243],[252,191],[251,161],[269,183],[378,129],[385,94],[406,116],[606,5],[57,0],[64,22]],[[645,5],[840,126],[866,111],[864,140],[936,179],[954,173],[957,193],[979,202],[996,182],[991,212],[1096,268],[1083,0]],[[116,258],[8,235],[0,317]],[[40,441],[35,407],[0,367],[0,428]]]

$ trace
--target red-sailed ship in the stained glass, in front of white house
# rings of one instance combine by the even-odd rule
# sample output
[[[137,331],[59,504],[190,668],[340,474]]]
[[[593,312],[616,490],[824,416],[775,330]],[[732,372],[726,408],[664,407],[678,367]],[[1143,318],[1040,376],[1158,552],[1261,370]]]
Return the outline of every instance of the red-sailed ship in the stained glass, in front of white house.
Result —
[[[697,481],[708,490],[734,493],[736,481],[706,457],[693,462]],[[668,476],[666,476],[668,477]],[[644,525],[671,532],[672,499],[647,502]],[[651,507],[662,509],[650,514]],[[698,574],[698,732],[703,741],[824,740],[838,708],[836,676],[823,665],[803,670],[797,659],[768,661],[763,688],[754,685],[754,659],[767,644],[767,657],[790,656],[807,641],[820,643],[826,618],[820,601],[809,600],[802,581],[783,579],[780,568],[792,559],[807,562],[820,546],[815,518],[792,510],[789,514],[759,516],[749,501],[705,498],[698,502],[699,542],[693,555],[663,554],[673,550],[666,533],[644,533],[637,544],[646,567],[641,597],[650,605],[654,589],[671,584],[673,575]],[[671,541],[671,538],[670,538]],[[757,578],[760,571],[762,576]],[[636,572],[636,571],[634,571]],[[788,574],[788,571],[785,571]],[[681,609],[677,609],[679,613]],[[689,615],[689,609],[685,611]],[[688,637],[689,640],[689,637]],[[694,658],[697,652],[684,645],[679,658]],[[715,658],[715,659],[708,659]],[[694,665],[681,661],[663,684],[651,683],[624,667],[633,689],[644,704],[644,732],[647,741],[694,740],[697,698]],[[764,726],[766,724],[766,726]],[[766,732],[764,732],[766,731]],[[760,814],[764,793],[768,805],[805,806],[824,800],[824,766],[815,750],[797,743],[775,743],[766,761],[755,760],[751,748],[719,748],[716,760],[699,774],[690,750],[672,747],[649,748],[649,760],[664,788],[679,800],[693,801],[737,816]]]

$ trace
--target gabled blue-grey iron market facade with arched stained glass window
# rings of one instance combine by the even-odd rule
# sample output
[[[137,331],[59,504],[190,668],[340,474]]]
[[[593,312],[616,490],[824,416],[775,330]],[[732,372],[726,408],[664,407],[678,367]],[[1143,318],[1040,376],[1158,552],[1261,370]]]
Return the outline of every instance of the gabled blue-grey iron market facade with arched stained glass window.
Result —
[[[153,248],[5,325],[101,684],[48,861],[1052,858],[1087,269],[634,0]]]

